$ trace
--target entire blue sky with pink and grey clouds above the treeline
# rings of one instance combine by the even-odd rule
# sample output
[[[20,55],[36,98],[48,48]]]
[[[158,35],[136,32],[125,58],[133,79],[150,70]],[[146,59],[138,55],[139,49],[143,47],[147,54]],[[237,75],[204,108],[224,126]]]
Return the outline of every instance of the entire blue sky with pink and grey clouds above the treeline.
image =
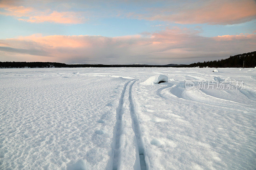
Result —
[[[255,0],[0,0],[0,61],[169,64],[256,51]]]

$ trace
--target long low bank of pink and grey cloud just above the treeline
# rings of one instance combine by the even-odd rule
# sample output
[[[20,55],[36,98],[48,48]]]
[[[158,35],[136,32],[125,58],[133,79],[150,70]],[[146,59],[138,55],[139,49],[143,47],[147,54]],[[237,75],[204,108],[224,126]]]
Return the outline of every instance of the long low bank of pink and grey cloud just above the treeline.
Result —
[[[0,40],[0,44],[5,45],[0,47],[0,53],[8,56],[1,61],[166,64],[220,59],[254,51],[256,35],[202,37],[194,30],[174,27],[119,37],[35,34]]]

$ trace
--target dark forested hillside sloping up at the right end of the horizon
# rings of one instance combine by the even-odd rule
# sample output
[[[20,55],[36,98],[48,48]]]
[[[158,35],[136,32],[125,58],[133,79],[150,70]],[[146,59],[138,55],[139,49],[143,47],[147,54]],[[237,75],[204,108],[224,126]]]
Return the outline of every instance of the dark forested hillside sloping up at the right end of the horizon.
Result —
[[[207,61],[203,63],[192,63],[185,67],[255,67],[256,66],[256,51],[244,54],[230,56],[227,59]]]

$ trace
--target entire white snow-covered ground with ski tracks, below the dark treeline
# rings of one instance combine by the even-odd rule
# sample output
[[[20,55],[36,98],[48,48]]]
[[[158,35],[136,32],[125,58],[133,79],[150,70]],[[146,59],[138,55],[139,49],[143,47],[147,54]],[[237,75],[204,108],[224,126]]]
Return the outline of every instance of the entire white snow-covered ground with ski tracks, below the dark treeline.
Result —
[[[0,69],[0,169],[255,169],[256,69],[213,70]]]

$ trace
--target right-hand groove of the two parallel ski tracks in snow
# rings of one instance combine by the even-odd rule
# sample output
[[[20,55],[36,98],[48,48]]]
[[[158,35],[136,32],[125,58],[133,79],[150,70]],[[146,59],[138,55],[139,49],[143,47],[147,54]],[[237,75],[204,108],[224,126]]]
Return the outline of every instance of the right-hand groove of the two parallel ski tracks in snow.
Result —
[[[141,130],[140,130],[140,125],[138,122],[137,115],[135,113],[134,109],[134,103],[132,100],[132,85],[136,82],[137,80],[134,80],[130,87],[129,87],[129,102],[130,102],[130,114],[132,117],[132,129],[134,131],[134,134],[136,136],[136,141],[137,141],[137,147],[139,150],[139,156],[140,156],[140,169],[141,170],[146,170],[146,162],[145,162],[145,157],[144,157],[144,147],[142,144],[142,139],[141,139]]]

